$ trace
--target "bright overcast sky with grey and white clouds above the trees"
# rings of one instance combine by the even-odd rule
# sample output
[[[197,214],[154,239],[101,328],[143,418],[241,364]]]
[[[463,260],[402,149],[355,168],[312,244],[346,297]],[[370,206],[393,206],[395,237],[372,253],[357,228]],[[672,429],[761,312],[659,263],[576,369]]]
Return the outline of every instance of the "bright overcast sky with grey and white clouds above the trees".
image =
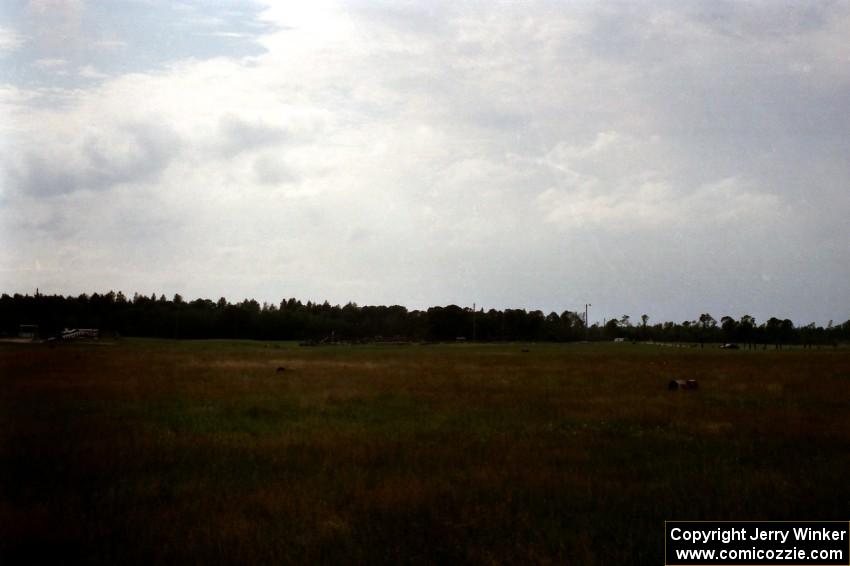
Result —
[[[0,242],[5,293],[842,322],[850,2],[4,1]]]

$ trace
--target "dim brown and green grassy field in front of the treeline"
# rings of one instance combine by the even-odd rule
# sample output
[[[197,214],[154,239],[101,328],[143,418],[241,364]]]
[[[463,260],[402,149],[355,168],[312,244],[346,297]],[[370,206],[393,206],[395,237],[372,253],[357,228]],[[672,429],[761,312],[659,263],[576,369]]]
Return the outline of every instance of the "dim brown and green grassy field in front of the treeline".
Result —
[[[4,564],[657,566],[665,519],[850,512],[847,349],[6,344],[0,388]]]

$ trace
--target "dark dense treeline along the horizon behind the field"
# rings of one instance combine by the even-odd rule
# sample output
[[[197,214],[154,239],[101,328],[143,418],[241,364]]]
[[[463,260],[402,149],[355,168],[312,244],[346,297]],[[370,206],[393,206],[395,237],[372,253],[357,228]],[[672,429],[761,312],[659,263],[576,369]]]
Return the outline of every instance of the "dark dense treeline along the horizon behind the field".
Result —
[[[345,306],[302,303],[279,305],[246,299],[230,303],[180,295],[150,297],[123,293],[80,295],[19,295],[0,297],[0,333],[18,334],[21,325],[37,324],[41,337],[63,328],[99,328],[125,336],[164,338],[251,338],[263,340],[479,340],[574,341],[655,340],[665,342],[738,342],[743,344],[835,344],[850,340],[850,320],[825,328],[814,323],[795,326],[770,318],[761,324],[748,315],[719,321],[708,313],[693,321],[650,324],[642,315],[628,316],[585,328],[583,317],[564,311],[548,315],[520,309],[478,310],[456,305],[409,311],[402,306]]]

